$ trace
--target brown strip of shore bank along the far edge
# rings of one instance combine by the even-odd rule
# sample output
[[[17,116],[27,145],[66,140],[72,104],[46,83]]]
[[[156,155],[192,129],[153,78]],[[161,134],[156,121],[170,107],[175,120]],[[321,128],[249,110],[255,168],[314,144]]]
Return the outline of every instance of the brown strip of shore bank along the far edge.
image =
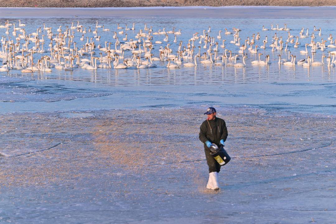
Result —
[[[0,0],[0,7],[84,7],[84,8],[96,8],[96,7],[152,7],[152,6],[335,6],[336,0],[303,0],[303,1],[275,1],[275,0],[219,0],[219,1],[204,1],[200,0],[55,0],[55,1],[43,1],[43,0]]]

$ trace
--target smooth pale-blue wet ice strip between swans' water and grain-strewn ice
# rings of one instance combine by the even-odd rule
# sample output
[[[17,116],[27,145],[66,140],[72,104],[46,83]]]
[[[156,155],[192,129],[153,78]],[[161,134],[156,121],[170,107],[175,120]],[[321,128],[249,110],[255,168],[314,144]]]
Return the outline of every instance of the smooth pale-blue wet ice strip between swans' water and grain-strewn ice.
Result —
[[[48,80],[38,81],[38,83],[11,83],[10,86],[11,88],[5,89],[10,89],[12,92],[3,90],[0,94],[3,101],[6,101],[0,102],[3,106],[1,111],[5,113],[240,105],[259,107],[268,111],[281,110],[283,113],[295,111],[335,114],[335,83],[273,82],[253,85],[223,83],[153,87],[106,87],[94,83],[90,87],[89,84],[83,86],[83,82],[65,85],[58,80]]]

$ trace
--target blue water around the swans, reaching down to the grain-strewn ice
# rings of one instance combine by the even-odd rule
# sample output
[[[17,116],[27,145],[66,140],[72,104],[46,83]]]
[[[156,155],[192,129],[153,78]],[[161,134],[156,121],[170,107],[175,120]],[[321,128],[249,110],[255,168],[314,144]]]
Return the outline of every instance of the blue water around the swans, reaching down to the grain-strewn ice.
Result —
[[[169,10],[169,9],[167,9]],[[225,15],[224,15],[225,16]],[[182,17],[182,18],[181,18]],[[241,44],[248,37],[252,39],[252,34],[260,34],[260,39],[255,40],[259,47],[263,45],[265,36],[268,37],[266,49],[258,48],[258,53],[262,53],[261,60],[270,55],[271,64],[252,65],[251,61],[258,60],[258,54],[250,53],[245,50],[248,57],[246,67],[203,65],[199,63],[197,67],[183,67],[177,69],[166,68],[166,61],[154,61],[157,64],[155,68],[137,69],[104,69],[85,70],[75,68],[73,71],[64,71],[53,69],[52,72],[34,72],[22,73],[19,70],[10,70],[9,72],[0,72],[0,113],[9,112],[50,112],[50,111],[70,111],[70,110],[100,110],[100,109],[152,109],[157,107],[176,108],[176,107],[199,107],[205,105],[220,106],[248,106],[257,107],[268,111],[280,110],[286,112],[309,112],[336,114],[336,83],[335,67],[311,66],[309,68],[296,66],[284,66],[278,64],[278,55],[281,58],[288,58],[289,52],[285,50],[271,51],[272,37],[277,33],[277,37],[282,37],[284,43],[288,36],[288,31],[268,30],[262,31],[262,25],[270,29],[271,24],[279,24],[279,27],[287,27],[291,35],[299,36],[301,27],[304,27],[304,34],[308,28],[308,38],[299,38],[300,45],[293,48],[294,44],[288,43],[290,54],[296,55],[297,61],[311,57],[310,48],[308,54],[300,54],[300,50],[305,49],[305,43],[310,43],[311,34],[314,33],[314,41],[321,42],[321,39],[327,40],[329,34],[336,37],[334,28],[335,18],[143,18],[139,11],[137,18],[120,17],[66,17],[66,18],[19,18],[25,23],[26,33],[36,32],[38,27],[42,28],[39,35],[47,35],[43,31],[43,23],[47,27],[52,27],[53,33],[59,26],[62,31],[66,26],[71,26],[72,22],[77,25],[77,21],[87,29],[91,27],[94,30],[96,21],[99,25],[104,25],[110,29],[103,32],[98,28],[100,41],[95,40],[93,33],[86,33],[84,40],[81,41],[82,33],[72,30],[74,41],[80,48],[87,42],[87,37],[93,38],[95,45],[104,47],[104,41],[112,42],[111,48],[119,49],[120,45],[115,46],[116,39],[113,38],[114,31],[117,32],[119,41],[123,43],[122,38],[125,33],[128,39],[135,40],[135,35],[140,29],[144,31],[144,23],[148,27],[152,26],[153,32],[166,28],[170,31],[175,27],[175,31],[181,29],[181,35],[177,36],[177,42],[173,42],[174,34],[168,34],[168,42],[164,42],[165,35],[153,35],[152,53],[154,57],[159,56],[160,46],[165,47],[168,43],[173,50],[172,54],[177,55],[178,44],[182,41],[182,46],[186,46],[193,34],[198,32],[198,36],[205,30],[210,37],[214,37],[218,42],[218,54],[222,55],[224,48],[219,47],[222,40],[226,40],[225,48],[231,50],[233,54],[238,54],[239,46],[230,43],[233,40],[233,34],[225,35],[224,29],[233,32],[233,28],[240,29]],[[1,18],[0,24],[4,24],[8,18]],[[18,25],[18,18],[11,17],[10,23]],[[124,34],[118,34],[117,23],[125,27],[132,27],[135,23],[135,30],[124,31]],[[322,35],[318,31],[313,31],[313,26],[322,29]],[[208,32],[209,26],[211,32]],[[217,39],[219,30],[222,39]],[[5,34],[6,29],[1,28],[0,34],[15,40],[12,34],[12,27],[9,34]],[[17,32],[19,33],[19,32]],[[48,49],[50,40],[44,36],[44,48]],[[6,38],[6,39],[7,39]],[[291,38],[292,39],[292,38]],[[162,44],[154,44],[155,41],[162,41]],[[204,43],[199,43],[200,39],[195,40],[195,53],[198,53],[198,46],[201,46],[201,53],[207,48]],[[23,40],[20,41],[23,43]],[[190,44],[192,42],[189,42]],[[326,45],[330,44],[330,41]],[[30,43],[30,48],[34,46]],[[3,43],[1,44],[1,47]],[[255,45],[254,45],[255,46]],[[284,44],[285,47],[285,44]],[[214,46],[212,47],[214,48]],[[321,61],[323,55],[328,57],[328,51],[335,48],[326,48],[324,51],[318,49],[314,55],[315,61]],[[95,56],[99,56],[97,48],[94,50]],[[105,55],[104,52],[103,56]],[[46,53],[35,53],[37,60]],[[240,60],[242,62],[242,54]],[[131,52],[126,51],[125,57],[130,57]],[[86,58],[89,55],[85,56]],[[331,56],[332,57],[332,56]],[[190,61],[184,59],[183,63]],[[192,60],[193,61],[193,60]],[[229,61],[224,60],[225,64]],[[99,60],[98,60],[99,64]]]

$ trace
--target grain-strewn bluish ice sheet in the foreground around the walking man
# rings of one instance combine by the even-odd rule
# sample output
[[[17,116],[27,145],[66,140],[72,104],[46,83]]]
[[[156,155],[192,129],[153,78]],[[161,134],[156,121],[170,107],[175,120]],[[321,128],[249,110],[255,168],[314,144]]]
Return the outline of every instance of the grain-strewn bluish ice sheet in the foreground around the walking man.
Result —
[[[203,110],[1,116],[1,221],[334,223],[335,116],[217,110],[232,157],[217,193],[205,189]]]

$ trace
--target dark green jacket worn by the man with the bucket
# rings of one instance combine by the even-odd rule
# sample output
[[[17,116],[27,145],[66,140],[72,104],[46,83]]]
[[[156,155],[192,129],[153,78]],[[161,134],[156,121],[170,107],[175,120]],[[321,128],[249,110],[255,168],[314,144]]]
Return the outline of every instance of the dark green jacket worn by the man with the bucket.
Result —
[[[209,126],[210,124],[210,126]],[[211,128],[210,128],[211,127]],[[206,145],[206,141],[210,141],[211,143],[220,145],[220,139],[223,139],[224,142],[227,138],[227,128],[225,121],[216,117],[214,120],[203,121],[200,127],[199,139],[204,143],[204,148],[209,149]]]

